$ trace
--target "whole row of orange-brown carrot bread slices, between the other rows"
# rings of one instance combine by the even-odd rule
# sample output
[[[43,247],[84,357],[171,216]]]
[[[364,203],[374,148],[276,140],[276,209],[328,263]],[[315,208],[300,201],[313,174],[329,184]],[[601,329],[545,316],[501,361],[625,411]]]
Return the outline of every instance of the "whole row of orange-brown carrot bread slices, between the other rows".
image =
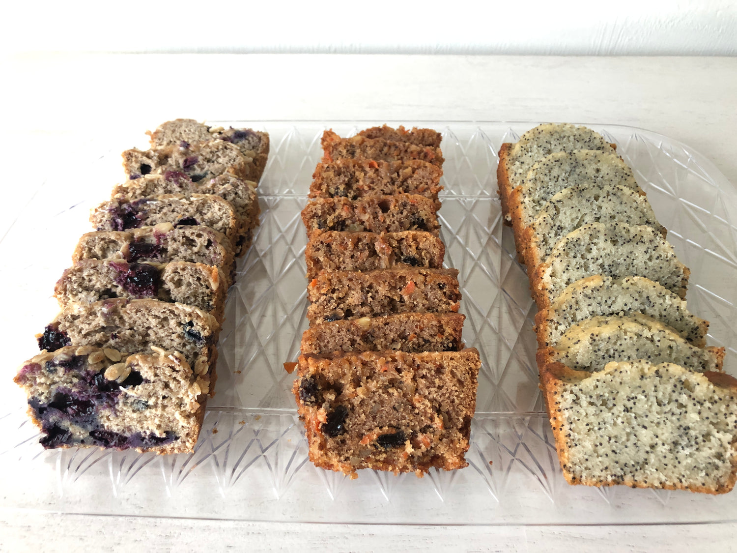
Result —
[[[467,466],[481,365],[442,268],[441,134],[326,131],[302,212],[310,328],[294,393],[310,459],[342,471]]]

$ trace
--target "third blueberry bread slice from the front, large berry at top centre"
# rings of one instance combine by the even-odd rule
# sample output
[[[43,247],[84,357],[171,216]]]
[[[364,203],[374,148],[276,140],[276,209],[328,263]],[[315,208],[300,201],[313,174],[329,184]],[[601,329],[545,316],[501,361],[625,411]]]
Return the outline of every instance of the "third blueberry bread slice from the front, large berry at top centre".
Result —
[[[62,308],[70,302],[155,298],[194,305],[222,321],[226,291],[217,267],[203,263],[83,260],[64,271],[55,296]]]

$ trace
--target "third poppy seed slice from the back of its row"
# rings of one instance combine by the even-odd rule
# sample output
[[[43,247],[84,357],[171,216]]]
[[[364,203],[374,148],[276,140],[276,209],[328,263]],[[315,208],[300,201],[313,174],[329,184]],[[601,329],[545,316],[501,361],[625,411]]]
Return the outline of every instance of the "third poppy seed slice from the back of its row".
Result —
[[[569,187],[554,195],[521,233],[528,270],[545,261],[562,237],[588,223],[647,225],[666,237],[646,195],[620,184]]]

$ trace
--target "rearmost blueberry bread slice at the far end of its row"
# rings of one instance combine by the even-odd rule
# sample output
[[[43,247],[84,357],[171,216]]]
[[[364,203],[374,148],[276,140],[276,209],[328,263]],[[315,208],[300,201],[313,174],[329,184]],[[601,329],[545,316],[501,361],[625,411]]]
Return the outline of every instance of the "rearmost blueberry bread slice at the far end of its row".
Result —
[[[195,119],[175,119],[158,125],[156,131],[147,133],[151,147],[188,146],[198,142],[224,140],[238,147],[240,152],[254,160],[254,179],[258,181],[266,167],[269,153],[269,135],[250,128],[212,127]],[[184,142],[184,144],[182,144]]]

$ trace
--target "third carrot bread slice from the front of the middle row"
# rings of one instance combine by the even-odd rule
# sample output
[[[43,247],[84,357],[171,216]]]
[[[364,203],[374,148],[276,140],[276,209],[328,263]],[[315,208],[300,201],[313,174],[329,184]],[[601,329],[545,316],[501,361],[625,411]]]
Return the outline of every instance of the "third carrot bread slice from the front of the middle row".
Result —
[[[310,324],[391,315],[457,313],[458,269],[391,268],[330,271],[307,286]]]

